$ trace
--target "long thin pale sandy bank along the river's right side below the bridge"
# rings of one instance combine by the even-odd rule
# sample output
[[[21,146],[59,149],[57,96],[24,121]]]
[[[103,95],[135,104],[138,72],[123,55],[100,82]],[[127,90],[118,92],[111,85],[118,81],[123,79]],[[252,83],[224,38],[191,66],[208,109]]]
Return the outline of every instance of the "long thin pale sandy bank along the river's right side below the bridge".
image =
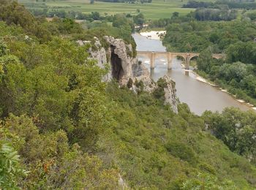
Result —
[[[207,83],[208,85],[217,87],[217,88],[219,88],[220,91],[223,91],[223,92],[229,94],[230,96],[233,96],[233,98],[236,99],[237,102],[240,102],[241,104],[245,104],[246,106],[252,108],[252,110],[256,110],[256,107],[254,104],[251,104],[250,102],[246,102],[244,99],[238,99],[235,94],[231,94],[229,91],[227,91],[227,89],[217,86],[217,84],[215,84],[213,81],[207,80],[206,78],[200,76],[197,72],[195,72],[193,70],[189,70],[189,72],[192,72],[196,76],[195,77],[196,80],[199,80],[203,83]]]

